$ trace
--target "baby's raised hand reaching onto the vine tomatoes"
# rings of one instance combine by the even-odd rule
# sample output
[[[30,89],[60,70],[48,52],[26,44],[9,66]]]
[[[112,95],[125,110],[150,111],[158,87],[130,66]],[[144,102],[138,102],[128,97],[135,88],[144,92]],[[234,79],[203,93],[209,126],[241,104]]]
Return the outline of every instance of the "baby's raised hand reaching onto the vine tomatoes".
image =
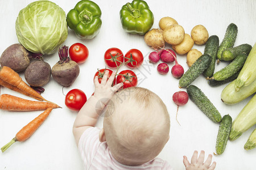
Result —
[[[109,75],[109,71],[106,70],[101,80],[101,83],[98,82],[98,76],[94,78],[94,86],[95,86],[94,97],[96,97],[105,105],[108,104],[113,94],[123,86],[123,83],[119,83],[119,84],[115,84],[115,86],[112,87],[112,83],[115,78],[115,73],[113,72],[112,75],[109,77],[109,79],[108,79],[108,75]]]

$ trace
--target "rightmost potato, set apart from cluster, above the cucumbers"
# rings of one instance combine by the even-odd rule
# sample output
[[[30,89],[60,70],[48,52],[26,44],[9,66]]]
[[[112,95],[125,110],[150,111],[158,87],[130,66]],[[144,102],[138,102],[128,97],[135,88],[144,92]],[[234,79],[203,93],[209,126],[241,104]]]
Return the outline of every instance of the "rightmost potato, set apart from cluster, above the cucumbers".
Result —
[[[191,31],[191,37],[197,45],[203,45],[208,40],[209,33],[203,25],[196,25]]]

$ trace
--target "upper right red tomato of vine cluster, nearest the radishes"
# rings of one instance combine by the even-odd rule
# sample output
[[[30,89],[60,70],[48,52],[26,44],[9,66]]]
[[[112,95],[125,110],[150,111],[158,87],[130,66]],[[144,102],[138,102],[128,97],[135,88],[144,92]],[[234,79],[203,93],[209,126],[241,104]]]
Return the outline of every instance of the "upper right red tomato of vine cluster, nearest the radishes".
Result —
[[[143,63],[143,54],[138,49],[130,49],[125,54],[125,62],[130,61],[127,63],[127,66],[130,68],[139,67]]]

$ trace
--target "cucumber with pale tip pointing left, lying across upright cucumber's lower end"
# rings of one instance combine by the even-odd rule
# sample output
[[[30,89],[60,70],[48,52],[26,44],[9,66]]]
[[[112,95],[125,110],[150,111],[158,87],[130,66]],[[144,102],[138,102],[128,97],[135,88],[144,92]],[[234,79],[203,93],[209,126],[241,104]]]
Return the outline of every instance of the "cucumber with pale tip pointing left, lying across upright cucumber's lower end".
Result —
[[[238,54],[246,53],[247,56],[250,53],[251,45],[241,44],[233,48],[226,49],[222,52],[221,58],[224,61],[230,61],[237,57]]]

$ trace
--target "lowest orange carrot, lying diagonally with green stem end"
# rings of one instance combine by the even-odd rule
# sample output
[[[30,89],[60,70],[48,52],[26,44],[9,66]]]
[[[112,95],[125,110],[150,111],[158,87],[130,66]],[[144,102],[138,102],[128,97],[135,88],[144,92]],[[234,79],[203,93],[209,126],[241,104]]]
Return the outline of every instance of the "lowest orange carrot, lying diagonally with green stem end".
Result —
[[[11,141],[1,148],[1,151],[6,151],[7,148],[9,148],[15,142],[26,141],[29,137],[31,137],[31,135],[36,131],[36,129],[38,129],[39,126],[43,124],[44,120],[46,120],[51,111],[52,108],[46,109],[46,111],[39,114],[38,117],[34,118],[34,120],[29,122],[22,129],[20,129],[20,131],[15,135],[15,137]]]

